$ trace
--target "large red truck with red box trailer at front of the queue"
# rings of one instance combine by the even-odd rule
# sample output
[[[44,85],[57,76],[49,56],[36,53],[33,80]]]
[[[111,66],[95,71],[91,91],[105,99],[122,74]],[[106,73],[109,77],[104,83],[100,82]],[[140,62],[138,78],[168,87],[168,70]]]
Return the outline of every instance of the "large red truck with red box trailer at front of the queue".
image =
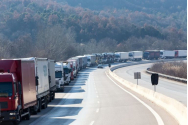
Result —
[[[37,113],[34,61],[0,60],[0,122],[30,119]]]

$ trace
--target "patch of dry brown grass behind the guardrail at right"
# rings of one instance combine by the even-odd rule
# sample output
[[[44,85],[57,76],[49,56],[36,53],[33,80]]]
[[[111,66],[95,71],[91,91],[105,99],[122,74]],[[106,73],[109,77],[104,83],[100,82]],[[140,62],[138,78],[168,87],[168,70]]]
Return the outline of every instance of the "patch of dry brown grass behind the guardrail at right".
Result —
[[[187,63],[183,61],[158,62],[151,66],[150,71],[187,79]]]

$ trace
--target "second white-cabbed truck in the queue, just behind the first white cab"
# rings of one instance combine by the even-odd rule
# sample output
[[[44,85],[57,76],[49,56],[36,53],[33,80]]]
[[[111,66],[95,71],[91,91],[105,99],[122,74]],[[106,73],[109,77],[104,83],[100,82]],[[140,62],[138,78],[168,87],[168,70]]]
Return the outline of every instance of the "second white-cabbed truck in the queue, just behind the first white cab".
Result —
[[[69,85],[71,82],[71,67],[70,63],[67,61],[63,62],[63,70],[64,70],[64,83],[65,85]]]

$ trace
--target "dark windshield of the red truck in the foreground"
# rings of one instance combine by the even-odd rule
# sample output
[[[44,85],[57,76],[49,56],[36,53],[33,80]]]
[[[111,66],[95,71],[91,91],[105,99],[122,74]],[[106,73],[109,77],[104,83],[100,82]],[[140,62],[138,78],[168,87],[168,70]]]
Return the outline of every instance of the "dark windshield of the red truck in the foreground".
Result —
[[[0,82],[0,97],[12,96],[12,82]]]

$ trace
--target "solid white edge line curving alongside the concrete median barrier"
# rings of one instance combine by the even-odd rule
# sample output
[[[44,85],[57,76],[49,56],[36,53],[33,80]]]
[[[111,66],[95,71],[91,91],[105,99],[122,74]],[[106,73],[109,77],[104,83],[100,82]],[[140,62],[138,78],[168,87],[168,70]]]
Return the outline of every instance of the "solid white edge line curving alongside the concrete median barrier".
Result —
[[[106,73],[106,72],[105,72]],[[132,94],[131,92],[125,90],[123,87],[121,87],[120,85],[118,85],[116,82],[114,82],[114,80],[112,80],[106,73],[106,76],[115,84],[117,85],[119,88],[121,88],[123,91],[127,92],[128,94],[130,94],[132,97],[134,97],[136,100],[138,100],[140,103],[142,103],[146,108],[148,108],[150,110],[150,112],[155,116],[158,125],[164,125],[163,120],[161,119],[161,117],[157,114],[157,112],[155,112],[155,110],[153,110],[149,105],[147,105],[146,103],[144,103],[142,100],[140,100],[138,97],[136,97],[134,94]]]

